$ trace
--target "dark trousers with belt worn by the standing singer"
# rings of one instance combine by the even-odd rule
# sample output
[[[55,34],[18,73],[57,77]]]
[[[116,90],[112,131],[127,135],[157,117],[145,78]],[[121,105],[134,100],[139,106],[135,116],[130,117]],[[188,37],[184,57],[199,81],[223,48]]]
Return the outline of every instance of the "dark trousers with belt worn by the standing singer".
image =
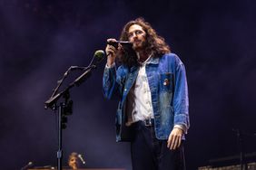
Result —
[[[170,150],[167,140],[155,137],[154,127],[145,126],[142,121],[133,123],[131,142],[133,170],[185,170],[182,145]]]

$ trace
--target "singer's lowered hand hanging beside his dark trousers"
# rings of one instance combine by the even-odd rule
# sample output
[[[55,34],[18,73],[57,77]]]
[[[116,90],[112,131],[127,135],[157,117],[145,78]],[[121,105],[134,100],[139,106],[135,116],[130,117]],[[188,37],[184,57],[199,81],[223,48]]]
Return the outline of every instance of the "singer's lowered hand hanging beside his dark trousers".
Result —
[[[168,137],[167,147],[174,150],[182,144],[183,131],[181,128],[174,127],[170,136]]]

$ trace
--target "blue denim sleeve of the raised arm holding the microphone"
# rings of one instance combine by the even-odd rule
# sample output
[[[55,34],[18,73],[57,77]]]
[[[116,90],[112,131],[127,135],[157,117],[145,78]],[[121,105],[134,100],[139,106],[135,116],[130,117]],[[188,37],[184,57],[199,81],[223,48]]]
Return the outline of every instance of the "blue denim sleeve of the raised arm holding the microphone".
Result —
[[[119,67],[116,71],[115,65],[103,71],[103,96],[106,99],[118,99],[121,96],[123,89],[122,68]]]

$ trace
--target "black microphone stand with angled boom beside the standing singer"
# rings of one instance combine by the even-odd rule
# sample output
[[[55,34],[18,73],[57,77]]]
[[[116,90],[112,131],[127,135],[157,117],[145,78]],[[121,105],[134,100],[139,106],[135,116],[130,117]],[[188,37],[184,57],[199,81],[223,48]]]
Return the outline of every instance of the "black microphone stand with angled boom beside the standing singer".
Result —
[[[53,95],[50,97],[50,99],[47,99],[44,104],[44,108],[48,109],[51,108],[54,111],[58,110],[58,151],[57,151],[57,160],[58,160],[58,170],[62,170],[62,159],[63,159],[63,142],[62,142],[62,137],[63,137],[63,129],[66,127],[66,123],[67,123],[67,116],[71,115],[73,113],[73,100],[70,99],[70,92],[69,90],[71,90],[74,85],[76,86],[80,86],[84,80],[86,80],[88,77],[91,76],[92,71],[96,68],[96,66],[94,64],[92,64],[92,62],[90,63],[90,65],[88,67],[85,68],[84,73],[79,76],[77,79],[75,79],[71,84],[69,84],[69,86],[65,89],[62,90],[61,92],[56,94],[56,91],[59,89],[60,85],[62,84],[65,76],[67,75],[66,71],[64,74],[64,78],[61,81],[58,81],[58,85],[57,88],[54,90]],[[64,98],[64,101],[61,102],[59,105],[57,105],[57,101],[58,99],[60,99],[61,97]]]

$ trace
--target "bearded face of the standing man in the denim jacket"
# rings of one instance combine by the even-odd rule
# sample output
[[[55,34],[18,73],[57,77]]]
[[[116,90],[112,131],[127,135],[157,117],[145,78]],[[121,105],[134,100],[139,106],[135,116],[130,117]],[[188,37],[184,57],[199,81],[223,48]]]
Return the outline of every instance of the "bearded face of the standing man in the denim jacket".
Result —
[[[146,33],[143,27],[138,24],[133,24],[128,30],[129,42],[133,42],[133,50],[138,52],[143,50],[146,44]]]

